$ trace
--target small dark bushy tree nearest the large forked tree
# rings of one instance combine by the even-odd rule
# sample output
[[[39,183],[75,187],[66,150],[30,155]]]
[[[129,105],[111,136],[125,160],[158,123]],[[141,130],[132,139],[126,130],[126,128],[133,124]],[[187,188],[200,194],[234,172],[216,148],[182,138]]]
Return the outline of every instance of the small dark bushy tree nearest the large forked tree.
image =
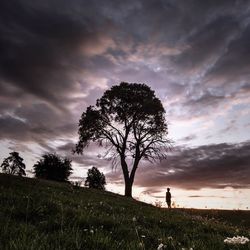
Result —
[[[88,176],[85,181],[86,187],[105,190],[105,185],[106,179],[103,173],[101,173],[96,167],[92,167],[88,170]]]

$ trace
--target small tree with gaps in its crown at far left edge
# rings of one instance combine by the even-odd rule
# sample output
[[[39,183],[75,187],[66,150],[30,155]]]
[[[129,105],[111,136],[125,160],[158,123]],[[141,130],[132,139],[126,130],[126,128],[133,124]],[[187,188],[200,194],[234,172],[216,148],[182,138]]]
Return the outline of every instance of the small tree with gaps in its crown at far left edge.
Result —
[[[5,158],[1,164],[3,173],[14,174],[23,176],[25,173],[25,164],[23,163],[23,158],[19,156],[18,152],[11,152],[10,156]]]

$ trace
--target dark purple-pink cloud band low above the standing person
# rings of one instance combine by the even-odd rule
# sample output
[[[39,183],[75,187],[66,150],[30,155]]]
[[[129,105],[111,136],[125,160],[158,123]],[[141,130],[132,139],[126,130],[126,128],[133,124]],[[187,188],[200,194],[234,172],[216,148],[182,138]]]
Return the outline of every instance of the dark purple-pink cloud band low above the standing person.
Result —
[[[249,188],[249,150],[249,141],[180,148],[157,167],[138,170],[136,184],[155,188]]]

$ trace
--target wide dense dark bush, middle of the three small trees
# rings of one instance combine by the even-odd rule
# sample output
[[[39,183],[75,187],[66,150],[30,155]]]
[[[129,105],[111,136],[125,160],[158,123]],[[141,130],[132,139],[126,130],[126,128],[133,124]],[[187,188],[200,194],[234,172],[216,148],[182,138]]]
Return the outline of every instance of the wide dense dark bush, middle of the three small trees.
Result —
[[[62,158],[56,154],[45,154],[43,159],[34,165],[35,176],[37,178],[67,181],[71,174],[71,160]]]

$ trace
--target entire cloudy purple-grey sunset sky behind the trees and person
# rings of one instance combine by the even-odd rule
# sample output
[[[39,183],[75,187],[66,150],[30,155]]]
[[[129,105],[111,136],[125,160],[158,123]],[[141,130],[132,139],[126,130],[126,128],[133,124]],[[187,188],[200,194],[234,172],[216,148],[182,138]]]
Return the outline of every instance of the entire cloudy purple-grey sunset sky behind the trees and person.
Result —
[[[78,121],[104,91],[145,83],[166,110],[173,149],[142,162],[134,197],[175,206],[249,209],[249,0],[0,1],[0,161],[15,150],[27,173],[41,155],[72,159],[72,180],[119,168],[90,145],[72,155]]]

